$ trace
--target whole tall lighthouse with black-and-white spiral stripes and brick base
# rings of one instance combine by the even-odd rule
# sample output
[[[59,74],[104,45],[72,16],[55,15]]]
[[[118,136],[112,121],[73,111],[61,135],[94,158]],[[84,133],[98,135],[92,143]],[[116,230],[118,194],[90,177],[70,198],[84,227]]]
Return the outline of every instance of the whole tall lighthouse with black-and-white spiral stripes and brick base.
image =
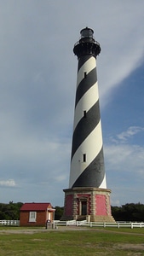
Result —
[[[104,165],[96,57],[101,46],[84,28],[73,52],[78,76],[72,134],[69,189],[64,189],[62,219],[113,222]]]

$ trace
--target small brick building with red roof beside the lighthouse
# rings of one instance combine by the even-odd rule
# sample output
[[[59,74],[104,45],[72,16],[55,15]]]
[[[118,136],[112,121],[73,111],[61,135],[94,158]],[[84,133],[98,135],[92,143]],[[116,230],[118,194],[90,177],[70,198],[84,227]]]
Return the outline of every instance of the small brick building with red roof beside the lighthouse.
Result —
[[[50,203],[25,203],[20,208],[20,226],[45,226],[54,216],[55,209]]]

